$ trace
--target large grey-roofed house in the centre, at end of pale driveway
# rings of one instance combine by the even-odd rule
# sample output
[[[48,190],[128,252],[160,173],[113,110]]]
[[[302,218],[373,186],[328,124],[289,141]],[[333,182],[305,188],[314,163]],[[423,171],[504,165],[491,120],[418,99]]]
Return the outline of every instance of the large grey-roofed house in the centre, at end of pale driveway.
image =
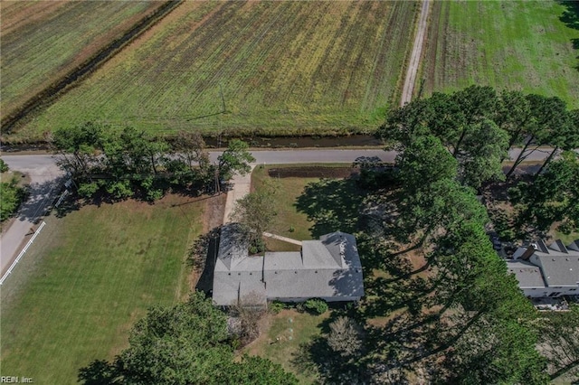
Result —
[[[249,256],[238,225],[223,226],[215,260],[215,305],[263,305],[267,300],[301,302],[308,298],[357,301],[364,296],[356,238],[332,232],[304,240],[301,251]]]

